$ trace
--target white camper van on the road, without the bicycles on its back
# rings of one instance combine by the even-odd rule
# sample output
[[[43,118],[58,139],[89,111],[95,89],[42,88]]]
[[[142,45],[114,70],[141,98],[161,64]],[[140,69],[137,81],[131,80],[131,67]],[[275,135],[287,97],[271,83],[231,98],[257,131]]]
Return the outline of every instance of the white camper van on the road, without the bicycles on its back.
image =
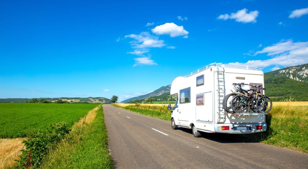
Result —
[[[171,112],[172,129],[190,128],[195,137],[201,132],[245,134],[266,130],[265,114],[228,113],[223,109],[223,98],[231,93],[233,83],[264,86],[263,72],[256,68],[213,63],[184,77],[176,77],[170,94],[177,96]],[[246,89],[245,87],[243,87]],[[249,86],[247,86],[249,89]]]

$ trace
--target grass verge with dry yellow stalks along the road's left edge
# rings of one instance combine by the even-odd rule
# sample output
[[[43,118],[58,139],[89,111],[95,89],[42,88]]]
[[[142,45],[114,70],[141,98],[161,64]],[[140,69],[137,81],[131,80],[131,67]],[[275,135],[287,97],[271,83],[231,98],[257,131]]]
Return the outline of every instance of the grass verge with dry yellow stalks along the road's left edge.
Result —
[[[113,167],[102,106],[74,124],[70,136],[62,140],[58,148],[50,151],[41,166],[41,168]]]

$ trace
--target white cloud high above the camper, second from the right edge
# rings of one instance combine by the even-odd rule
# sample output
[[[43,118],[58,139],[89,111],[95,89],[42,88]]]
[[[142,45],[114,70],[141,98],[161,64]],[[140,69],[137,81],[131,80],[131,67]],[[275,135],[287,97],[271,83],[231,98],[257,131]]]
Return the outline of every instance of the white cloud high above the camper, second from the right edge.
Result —
[[[256,23],[257,20],[256,18],[259,15],[259,11],[255,10],[255,11],[250,11],[249,13],[247,13],[247,9],[244,8],[242,10],[238,10],[236,13],[231,13],[229,14],[222,14],[219,15],[219,17],[217,17],[217,19],[223,19],[223,20],[227,20],[227,19],[235,19],[235,21],[237,22],[244,22],[244,23],[248,23],[248,22],[253,22]]]

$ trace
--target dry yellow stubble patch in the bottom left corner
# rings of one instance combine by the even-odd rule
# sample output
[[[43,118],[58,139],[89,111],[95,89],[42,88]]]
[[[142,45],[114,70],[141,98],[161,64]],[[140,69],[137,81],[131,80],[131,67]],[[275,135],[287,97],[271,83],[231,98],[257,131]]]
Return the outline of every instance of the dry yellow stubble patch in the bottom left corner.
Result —
[[[25,138],[0,139],[0,169],[8,168],[16,163],[14,160],[21,155],[26,147],[21,143]]]

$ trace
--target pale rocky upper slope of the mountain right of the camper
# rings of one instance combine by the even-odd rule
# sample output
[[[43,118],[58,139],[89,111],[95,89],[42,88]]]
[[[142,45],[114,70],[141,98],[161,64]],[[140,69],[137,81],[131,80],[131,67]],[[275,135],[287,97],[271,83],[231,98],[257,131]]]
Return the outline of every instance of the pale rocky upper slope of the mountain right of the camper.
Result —
[[[296,81],[308,82],[308,63],[298,66],[290,66],[265,73],[266,76],[287,77]]]

